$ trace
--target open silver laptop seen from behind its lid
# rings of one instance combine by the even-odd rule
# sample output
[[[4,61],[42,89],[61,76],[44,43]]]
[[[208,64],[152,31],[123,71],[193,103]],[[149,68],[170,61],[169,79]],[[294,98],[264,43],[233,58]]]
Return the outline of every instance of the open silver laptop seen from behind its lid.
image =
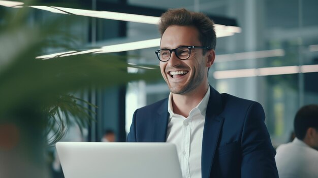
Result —
[[[171,143],[58,142],[65,178],[181,178]]]

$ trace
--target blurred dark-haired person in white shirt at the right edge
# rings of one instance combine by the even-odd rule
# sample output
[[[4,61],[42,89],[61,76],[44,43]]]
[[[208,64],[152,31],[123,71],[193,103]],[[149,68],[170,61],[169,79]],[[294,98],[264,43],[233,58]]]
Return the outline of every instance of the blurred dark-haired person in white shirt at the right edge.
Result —
[[[303,106],[294,120],[296,138],[275,156],[280,178],[318,177],[318,104]]]

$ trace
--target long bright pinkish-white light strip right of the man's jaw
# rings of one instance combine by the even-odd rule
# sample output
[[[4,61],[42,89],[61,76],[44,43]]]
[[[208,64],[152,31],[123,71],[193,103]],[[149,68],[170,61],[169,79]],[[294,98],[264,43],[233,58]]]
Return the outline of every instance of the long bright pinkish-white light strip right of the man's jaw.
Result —
[[[318,65],[301,65],[301,66],[282,66],[282,67],[264,67],[249,68],[237,70],[220,70],[213,73],[215,79],[231,79],[242,77],[272,76],[298,73],[316,73]]]

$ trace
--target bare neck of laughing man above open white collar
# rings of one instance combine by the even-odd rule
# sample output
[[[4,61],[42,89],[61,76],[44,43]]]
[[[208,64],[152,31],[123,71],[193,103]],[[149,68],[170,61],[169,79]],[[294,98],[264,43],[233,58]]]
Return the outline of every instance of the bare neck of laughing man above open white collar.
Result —
[[[189,113],[194,109],[208,90],[209,85],[201,87],[202,89],[196,89],[195,91],[186,94],[174,94],[172,93],[172,108],[175,114],[179,114],[185,118],[189,116]]]

